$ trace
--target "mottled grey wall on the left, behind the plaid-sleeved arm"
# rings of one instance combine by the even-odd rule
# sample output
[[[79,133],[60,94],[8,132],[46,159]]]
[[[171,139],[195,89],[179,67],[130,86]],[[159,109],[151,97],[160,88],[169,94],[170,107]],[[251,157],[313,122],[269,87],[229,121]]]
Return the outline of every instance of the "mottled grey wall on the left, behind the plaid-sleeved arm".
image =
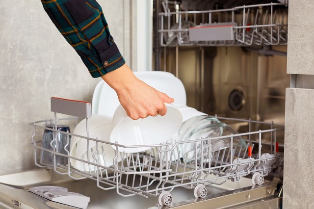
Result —
[[[98,0],[129,64],[131,0]],[[106,5],[110,5],[107,9]],[[124,27],[123,27],[124,26]],[[34,168],[29,122],[51,118],[50,97],[92,101],[92,78],[40,0],[0,4],[0,174]]]

